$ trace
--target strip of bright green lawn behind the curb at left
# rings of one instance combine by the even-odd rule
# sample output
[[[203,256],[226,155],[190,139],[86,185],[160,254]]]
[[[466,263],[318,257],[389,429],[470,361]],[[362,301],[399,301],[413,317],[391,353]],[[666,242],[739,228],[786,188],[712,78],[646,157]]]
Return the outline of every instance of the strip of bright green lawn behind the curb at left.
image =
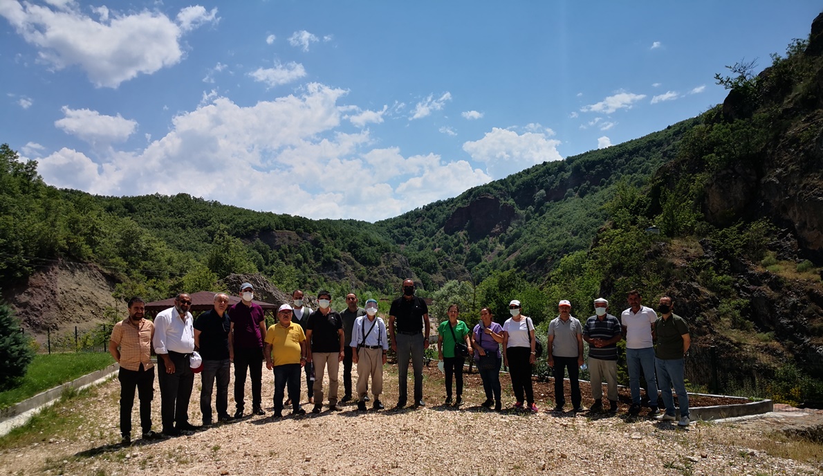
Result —
[[[114,363],[109,353],[54,353],[37,355],[21,385],[0,392],[0,408],[7,408],[40,392],[52,389]]]

